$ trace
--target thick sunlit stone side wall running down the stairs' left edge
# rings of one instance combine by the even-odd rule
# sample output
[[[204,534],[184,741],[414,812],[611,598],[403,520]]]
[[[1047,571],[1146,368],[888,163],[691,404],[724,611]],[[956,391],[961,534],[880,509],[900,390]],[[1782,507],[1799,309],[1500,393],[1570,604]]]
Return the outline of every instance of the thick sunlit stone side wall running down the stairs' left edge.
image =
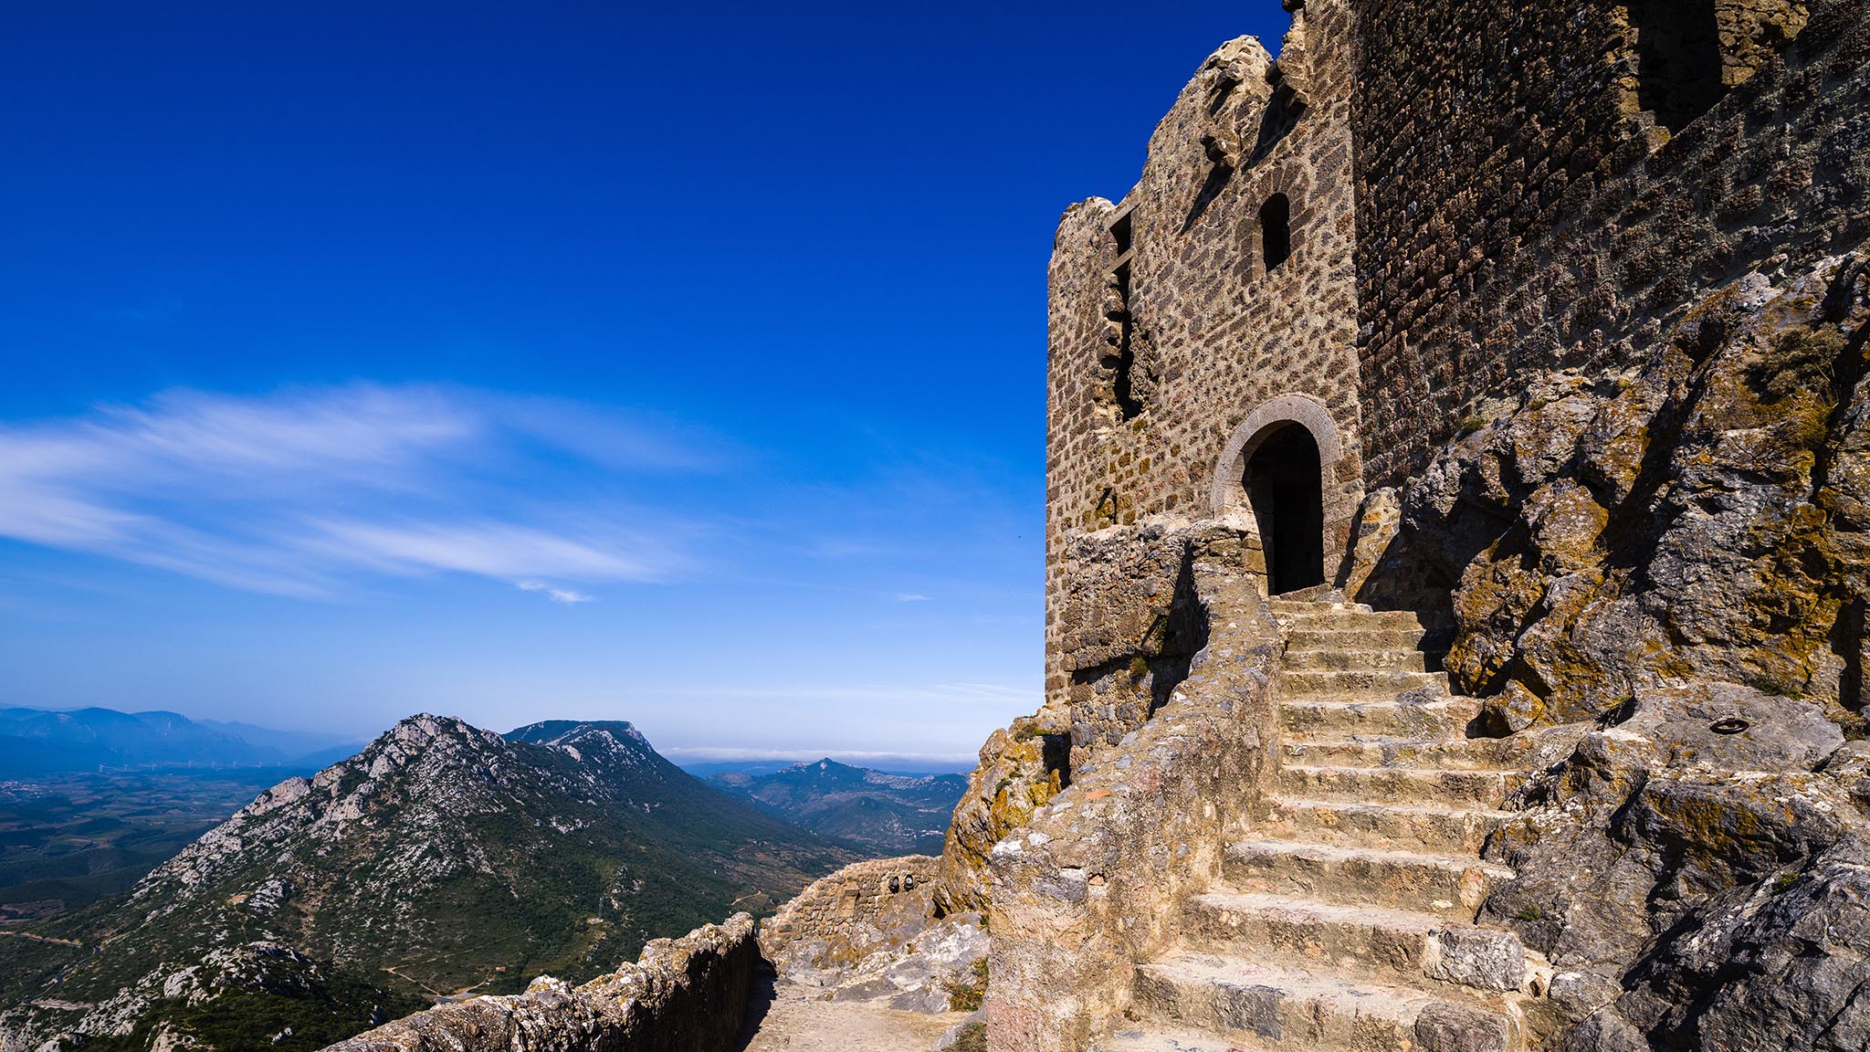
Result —
[[[1283,642],[1257,578],[1238,569],[1242,533],[1182,522],[1158,541],[1191,550],[1212,631],[1161,711],[1073,767],[1072,784],[993,848],[995,1052],[1077,1050],[1129,1007],[1135,964],[1176,940],[1180,899],[1216,878],[1245,831],[1230,824],[1259,811],[1272,771]]]

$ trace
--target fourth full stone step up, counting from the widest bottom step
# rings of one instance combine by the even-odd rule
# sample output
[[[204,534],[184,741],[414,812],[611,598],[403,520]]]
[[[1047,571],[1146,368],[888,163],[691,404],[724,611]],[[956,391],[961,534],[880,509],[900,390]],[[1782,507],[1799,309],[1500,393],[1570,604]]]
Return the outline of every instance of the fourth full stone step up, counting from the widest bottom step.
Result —
[[[1477,855],[1487,837],[1511,820],[1511,811],[1275,797],[1259,829],[1277,840]]]

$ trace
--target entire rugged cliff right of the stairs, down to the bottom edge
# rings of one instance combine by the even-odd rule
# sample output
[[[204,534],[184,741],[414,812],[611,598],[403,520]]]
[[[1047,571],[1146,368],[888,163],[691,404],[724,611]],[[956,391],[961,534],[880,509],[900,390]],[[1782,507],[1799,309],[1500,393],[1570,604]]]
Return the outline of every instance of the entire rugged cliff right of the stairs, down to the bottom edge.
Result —
[[[1565,1048],[1870,1041],[1866,337],[1870,256],[1750,273],[1373,498],[1363,595],[1546,752],[1485,915],[1550,957]]]

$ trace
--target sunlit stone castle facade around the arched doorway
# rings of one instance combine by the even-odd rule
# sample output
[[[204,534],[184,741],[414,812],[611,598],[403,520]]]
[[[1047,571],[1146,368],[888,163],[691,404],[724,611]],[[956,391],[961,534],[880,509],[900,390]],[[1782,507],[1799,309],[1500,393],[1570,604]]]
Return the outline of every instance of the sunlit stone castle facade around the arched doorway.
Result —
[[[1072,681],[1060,651],[1070,537],[1156,513],[1212,513],[1230,432],[1270,399],[1315,399],[1335,421],[1343,455],[1326,479],[1337,509],[1328,558],[1348,537],[1361,496],[1352,41],[1348,4],[1318,0],[1294,15],[1277,64],[1251,37],[1223,45],[1156,127],[1135,189],[1118,204],[1075,204],[1058,225],[1049,704],[1066,704]],[[1260,208],[1273,195],[1290,202],[1292,249],[1268,271]]]

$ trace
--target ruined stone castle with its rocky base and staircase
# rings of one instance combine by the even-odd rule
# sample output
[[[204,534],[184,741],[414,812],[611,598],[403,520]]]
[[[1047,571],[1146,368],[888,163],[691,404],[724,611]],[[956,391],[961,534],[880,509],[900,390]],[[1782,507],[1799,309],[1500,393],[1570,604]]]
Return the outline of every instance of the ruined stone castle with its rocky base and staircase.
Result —
[[[1043,709],[765,957],[984,928],[995,1052],[1870,1048],[1870,6],[1285,6],[1060,221]]]

